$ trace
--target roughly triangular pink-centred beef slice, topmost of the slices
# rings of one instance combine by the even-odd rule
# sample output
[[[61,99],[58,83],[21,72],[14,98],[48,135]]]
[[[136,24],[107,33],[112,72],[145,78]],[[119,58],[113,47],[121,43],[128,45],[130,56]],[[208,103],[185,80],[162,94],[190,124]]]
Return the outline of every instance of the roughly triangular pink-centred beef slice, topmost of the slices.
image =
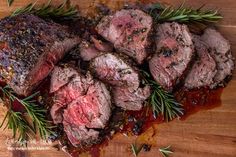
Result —
[[[152,18],[138,9],[122,9],[113,15],[105,16],[96,29],[114,47],[142,63],[147,57]]]

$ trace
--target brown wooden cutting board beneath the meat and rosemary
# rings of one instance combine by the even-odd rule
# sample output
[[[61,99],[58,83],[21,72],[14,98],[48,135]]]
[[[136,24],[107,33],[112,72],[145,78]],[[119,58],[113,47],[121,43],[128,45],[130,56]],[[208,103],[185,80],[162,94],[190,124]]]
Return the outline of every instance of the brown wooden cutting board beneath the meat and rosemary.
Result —
[[[134,0],[130,0],[134,2]],[[15,0],[12,7],[7,7],[6,0],[0,0],[0,18],[18,7],[25,6],[30,0]],[[47,0],[38,0],[38,4]],[[53,1],[62,2],[59,0]],[[99,0],[72,0],[78,5],[82,13],[87,14],[94,10],[94,5]],[[100,1],[101,2],[101,1]],[[127,0],[104,0],[104,4],[111,8],[119,8]],[[147,2],[144,0],[144,2]],[[160,1],[159,1],[160,2]],[[181,0],[161,0],[173,5],[179,5]],[[218,24],[220,32],[231,42],[232,51],[236,56],[236,1],[235,0],[188,0],[186,5],[199,7],[207,4],[208,8],[218,8],[224,16]],[[185,121],[175,120],[168,124],[159,124],[149,129],[146,136],[151,136],[155,131],[155,136],[149,142],[153,144],[150,152],[141,152],[140,157],[161,156],[158,148],[172,145],[173,157],[236,157],[236,71],[233,79],[223,90],[221,97],[222,105],[212,110],[200,111]],[[2,120],[5,110],[1,107],[0,120]],[[10,131],[0,131],[0,157],[11,157],[12,152],[7,150],[6,139],[11,137]],[[130,144],[136,137],[125,137],[116,135],[104,147],[101,157],[128,157],[132,156],[129,151]],[[19,157],[65,157],[66,155],[50,147],[49,150],[28,151],[25,155],[15,152]],[[83,154],[82,156],[89,156]]]

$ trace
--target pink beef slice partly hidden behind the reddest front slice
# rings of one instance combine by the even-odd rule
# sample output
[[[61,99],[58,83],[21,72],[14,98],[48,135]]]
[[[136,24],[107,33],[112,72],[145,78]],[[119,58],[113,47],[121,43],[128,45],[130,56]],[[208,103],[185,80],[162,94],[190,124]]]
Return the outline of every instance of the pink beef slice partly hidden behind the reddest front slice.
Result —
[[[57,69],[60,69],[61,75],[54,74],[58,72]],[[67,72],[69,71],[74,73],[73,77],[67,75],[68,74]],[[58,124],[62,122],[63,109],[66,108],[69,103],[71,103],[79,96],[86,94],[89,86],[93,83],[93,80],[91,75],[88,74],[87,76],[83,76],[72,67],[66,67],[66,68],[56,67],[52,72],[52,76],[56,76],[57,78],[51,77],[51,89],[50,89],[51,91],[53,87],[56,86],[57,83],[61,83],[58,82],[58,80],[60,80],[61,78],[64,78],[64,80],[68,81],[67,83],[64,84],[64,86],[56,90],[53,96],[53,106],[50,112],[53,122],[55,124]]]

